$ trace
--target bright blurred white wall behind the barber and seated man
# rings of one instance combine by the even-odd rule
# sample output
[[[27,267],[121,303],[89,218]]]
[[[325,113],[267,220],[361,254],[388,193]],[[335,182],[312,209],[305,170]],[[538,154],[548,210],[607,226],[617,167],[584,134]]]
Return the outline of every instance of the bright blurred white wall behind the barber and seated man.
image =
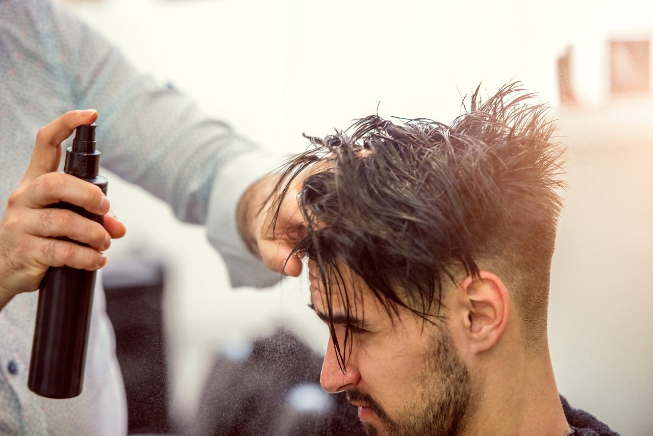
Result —
[[[608,74],[610,39],[653,36],[650,0],[105,0],[67,7],[142,70],[244,136],[289,153],[308,145],[302,132],[346,127],[379,101],[381,116],[449,122],[481,81],[492,93],[522,80],[557,106],[556,59],[571,44],[579,105],[552,114],[569,147],[570,185],[550,296],[554,370],[571,405],[624,435],[651,434],[653,97],[611,99]],[[222,345],[283,322],[324,349],[327,332],[305,307],[305,279],[231,290],[201,228],[110,179],[112,205],[129,228],[110,257],[142,250],[172,267],[165,307],[170,410],[178,422],[192,418]]]

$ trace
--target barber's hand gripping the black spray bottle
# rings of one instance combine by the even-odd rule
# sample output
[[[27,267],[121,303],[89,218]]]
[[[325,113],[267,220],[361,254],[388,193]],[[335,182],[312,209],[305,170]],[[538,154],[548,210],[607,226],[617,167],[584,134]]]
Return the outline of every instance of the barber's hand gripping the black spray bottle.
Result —
[[[27,173],[10,195],[0,220],[0,309],[14,295],[36,290],[50,266],[102,268],[106,264],[103,251],[112,238],[125,235],[125,226],[106,214],[110,204],[99,187],[56,172],[61,142],[78,126],[96,119],[95,110],[74,110],[40,129]],[[104,215],[104,226],[69,210],[48,208],[59,201]],[[57,236],[89,247],[57,240]]]

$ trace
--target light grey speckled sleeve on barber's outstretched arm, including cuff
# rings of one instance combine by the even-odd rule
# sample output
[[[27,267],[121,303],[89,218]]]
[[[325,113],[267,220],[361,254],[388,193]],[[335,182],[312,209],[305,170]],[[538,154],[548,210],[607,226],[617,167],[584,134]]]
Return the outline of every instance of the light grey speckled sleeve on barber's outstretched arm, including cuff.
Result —
[[[179,219],[206,224],[232,285],[277,281],[278,274],[247,251],[236,230],[235,210],[245,189],[281,157],[206,116],[176,89],[138,72],[84,23],[54,9],[52,30],[62,37],[52,50],[60,62],[52,67],[69,81],[78,108],[98,110],[103,165],[170,204]]]

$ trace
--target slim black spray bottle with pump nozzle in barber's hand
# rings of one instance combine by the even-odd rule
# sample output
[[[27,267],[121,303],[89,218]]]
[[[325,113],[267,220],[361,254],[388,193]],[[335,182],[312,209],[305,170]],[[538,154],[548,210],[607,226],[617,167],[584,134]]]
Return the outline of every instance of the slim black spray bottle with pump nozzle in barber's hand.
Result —
[[[98,175],[100,152],[95,149],[95,127],[93,123],[77,128],[72,147],[66,151],[64,171],[93,183],[106,195],[107,181]],[[50,207],[72,210],[103,223],[102,216],[67,202]],[[94,286],[95,271],[68,266],[52,267],[43,277],[27,380],[35,394],[71,398],[82,392]]]

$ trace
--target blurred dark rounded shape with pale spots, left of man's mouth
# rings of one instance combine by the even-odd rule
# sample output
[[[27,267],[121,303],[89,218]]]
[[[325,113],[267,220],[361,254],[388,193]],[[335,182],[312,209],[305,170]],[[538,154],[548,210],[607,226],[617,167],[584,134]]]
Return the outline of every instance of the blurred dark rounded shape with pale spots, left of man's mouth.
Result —
[[[191,435],[363,435],[344,393],[319,386],[322,357],[283,328],[225,349],[200,396]]]

